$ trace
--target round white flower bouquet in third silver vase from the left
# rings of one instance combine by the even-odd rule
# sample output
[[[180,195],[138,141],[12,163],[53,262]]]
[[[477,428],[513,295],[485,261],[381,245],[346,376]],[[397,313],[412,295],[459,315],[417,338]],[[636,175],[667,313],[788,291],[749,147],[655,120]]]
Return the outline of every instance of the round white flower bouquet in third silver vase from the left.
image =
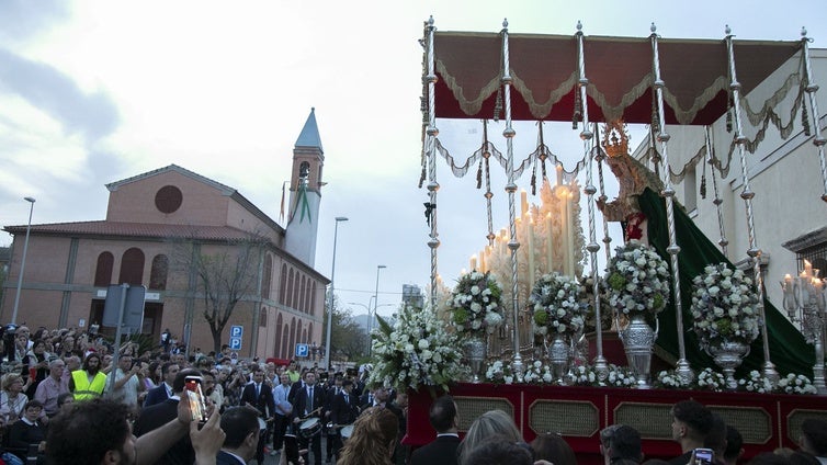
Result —
[[[620,314],[657,315],[669,302],[669,266],[638,240],[615,249],[605,280],[609,304]]]

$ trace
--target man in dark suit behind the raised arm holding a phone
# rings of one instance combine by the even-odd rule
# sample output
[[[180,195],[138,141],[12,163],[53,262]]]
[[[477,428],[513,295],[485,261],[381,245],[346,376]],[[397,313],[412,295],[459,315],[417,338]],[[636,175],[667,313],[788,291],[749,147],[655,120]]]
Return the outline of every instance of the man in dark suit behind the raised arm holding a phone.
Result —
[[[170,420],[178,418],[178,404],[184,392],[184,381],[186,376],[201,376],[201,372],[195,368],[186,368],[178,372],[175,378],[172,381],[172,396],[160,404],[145,407],[140,411],[140,415],[133,427],[133,433],[137,438],[140,438],[141,435],[162,427]],[[185,435],[175,442],[157,463],[165,465],[192,465],[194,461],[195,451],[192,449],[190,436]]]

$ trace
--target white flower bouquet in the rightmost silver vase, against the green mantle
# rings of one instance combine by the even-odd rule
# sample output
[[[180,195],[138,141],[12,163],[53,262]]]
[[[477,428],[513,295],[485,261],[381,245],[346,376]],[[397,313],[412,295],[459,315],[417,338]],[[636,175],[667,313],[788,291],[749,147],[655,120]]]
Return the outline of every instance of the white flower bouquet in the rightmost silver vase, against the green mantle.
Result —
[[[758,338],[758,295],[752,280],[726,263],[707,265],[692,280],[692,317],[701,348],[724,341],[749,345]]]

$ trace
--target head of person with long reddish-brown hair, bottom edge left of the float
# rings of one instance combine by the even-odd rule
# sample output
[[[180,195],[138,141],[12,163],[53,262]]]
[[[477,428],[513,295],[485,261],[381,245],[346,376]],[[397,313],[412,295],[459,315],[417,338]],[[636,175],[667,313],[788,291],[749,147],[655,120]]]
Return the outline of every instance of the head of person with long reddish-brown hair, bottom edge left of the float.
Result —
[[[383,407],[371,407],[353,423],[353,433],[336,465],[390,465],[399,419]]]

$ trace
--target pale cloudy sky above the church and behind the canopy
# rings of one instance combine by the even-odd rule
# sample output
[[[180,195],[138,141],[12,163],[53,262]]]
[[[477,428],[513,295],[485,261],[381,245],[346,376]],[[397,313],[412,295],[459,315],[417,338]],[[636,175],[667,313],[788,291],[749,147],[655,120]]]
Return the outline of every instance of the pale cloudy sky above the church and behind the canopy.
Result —
[[[315,268],[330,276],[333,218],[348,217],[336,235],[336,294],[364,313],[385,265],[378,313],[390,314],[404,284],[430,282],[428,192],[417,184],[418,39],[431,15],[440,31],[498,32],[508,19],[512,33],[540,34],[574,34],[579,20],[587,36],[645,37],[654,22],[670,38],[720,39],[728,24],[736,38],[795,41],[806,26],[811,46],[827,47],[822,0],[0,0],[0,225],[26,224],[24,196],[36,199],[33,224],[103,219],[106,183],[170,163],[237,189],[277,220],[315,107],[328,183]],[[816,79],[824,89],[827,77]],[[478,122],[438,126],[460,159],[480,144]],[[518,159],[535,144],[524,128]],[[567,168],[582,157],[570,124],[551,139]],[[499,229],[505,173],[492,178]],[[438,181],[439,271],[452,284],[485,246],[485,203],[473,173],[456,179],[442,163]]]

